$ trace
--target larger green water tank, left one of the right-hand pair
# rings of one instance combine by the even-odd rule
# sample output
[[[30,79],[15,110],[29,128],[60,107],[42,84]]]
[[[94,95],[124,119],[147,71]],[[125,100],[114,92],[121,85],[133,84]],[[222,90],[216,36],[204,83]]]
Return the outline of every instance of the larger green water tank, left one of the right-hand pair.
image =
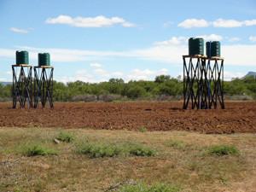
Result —
[[[204,55],[203,38],[189,38],[189,55]]]

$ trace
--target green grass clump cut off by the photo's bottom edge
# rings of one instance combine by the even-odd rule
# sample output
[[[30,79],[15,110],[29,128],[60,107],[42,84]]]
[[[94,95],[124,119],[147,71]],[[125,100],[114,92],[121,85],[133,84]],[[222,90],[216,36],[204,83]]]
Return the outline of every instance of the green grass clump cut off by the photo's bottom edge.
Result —
[[[108,191],[108,190],[107,190]],[[177,192],[181,191],[180,185],[169,185],[166,183],[154,183],[153,186],[148,187],[143,182],[125,182],[119,183],[118,186],[113,187],[111,191],[120,192]]]

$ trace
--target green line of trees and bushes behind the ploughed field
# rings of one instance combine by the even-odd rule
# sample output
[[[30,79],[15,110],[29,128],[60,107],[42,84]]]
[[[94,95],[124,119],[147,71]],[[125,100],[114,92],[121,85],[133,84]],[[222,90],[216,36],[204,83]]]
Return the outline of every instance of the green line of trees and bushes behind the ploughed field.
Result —
[[[0,84],[0,102],[12,96],[12,84]],[[183,98],[183,79],[171,78],[170,75],[156,76],[154,81],[109,79],[102,83],[85,83],[82,81],[63,84],[54,81],[55,102],[95,102],[113,100],[136,100],[152,98]],[[167,97],[165,97],[167,96]],[[247,96],[256,99],[256,78],[232,79],[224,81],[224,96]]]

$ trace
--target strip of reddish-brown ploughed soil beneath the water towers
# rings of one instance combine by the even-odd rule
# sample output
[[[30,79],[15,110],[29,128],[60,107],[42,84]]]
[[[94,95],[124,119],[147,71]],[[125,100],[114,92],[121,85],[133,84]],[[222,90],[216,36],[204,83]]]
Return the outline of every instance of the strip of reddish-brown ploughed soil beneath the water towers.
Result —
[[[0,126],[108,130],[256,132],[256,102],[225,102],[225,109],[183,110],[183,102],[55,103],[13,109],[0,103]]]

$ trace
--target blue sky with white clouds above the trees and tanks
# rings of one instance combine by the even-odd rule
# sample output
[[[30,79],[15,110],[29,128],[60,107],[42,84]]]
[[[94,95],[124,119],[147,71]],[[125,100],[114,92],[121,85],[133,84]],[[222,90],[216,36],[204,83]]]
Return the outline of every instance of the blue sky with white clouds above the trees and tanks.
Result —
[[[65,83],[176,78],[191,37],[221,42],[224,79],[256,71],[256,1],[0,0],[0,81],[16,50],[49,52]]]

